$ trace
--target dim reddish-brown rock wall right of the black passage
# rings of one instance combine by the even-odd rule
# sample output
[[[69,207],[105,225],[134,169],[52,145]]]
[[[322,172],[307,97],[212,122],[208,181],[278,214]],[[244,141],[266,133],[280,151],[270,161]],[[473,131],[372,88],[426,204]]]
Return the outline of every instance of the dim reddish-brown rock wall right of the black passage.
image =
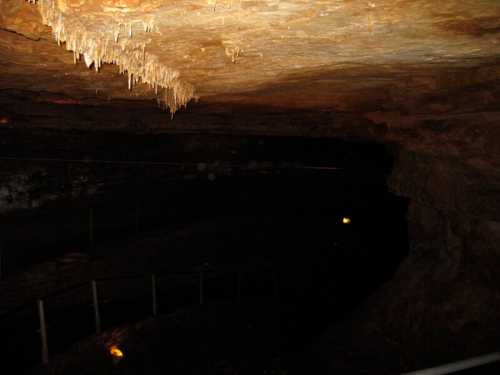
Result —
[[[332,371],[347,371],[346,351],[367,373],[381,363],[400,373],[498,349],[500,95],[498,75],[481,71],[428,77],[432,94],[389,91],[385,109],[363,114],[393,151],[387,184],[408,198],[410,252],[325,334]]]

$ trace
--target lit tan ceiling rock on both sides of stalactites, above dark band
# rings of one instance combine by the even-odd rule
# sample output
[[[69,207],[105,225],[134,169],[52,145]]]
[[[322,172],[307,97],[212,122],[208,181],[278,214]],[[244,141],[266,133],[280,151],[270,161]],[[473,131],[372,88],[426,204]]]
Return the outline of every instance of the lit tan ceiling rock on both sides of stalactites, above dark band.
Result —
[[[439,83],[429,71],[500,56],[496,0],[0,0],[0,6],[2,29],[17,33],[1,36],[0,87],[107,98],[151,98],[157,91],[174,111],[195,97],[338,107],[339,96],[377,98],[381,85],[410,77],[432,91]],[[49,41],[42,23],[62,47]],[[105,62],[128,80],[98,69]]]

